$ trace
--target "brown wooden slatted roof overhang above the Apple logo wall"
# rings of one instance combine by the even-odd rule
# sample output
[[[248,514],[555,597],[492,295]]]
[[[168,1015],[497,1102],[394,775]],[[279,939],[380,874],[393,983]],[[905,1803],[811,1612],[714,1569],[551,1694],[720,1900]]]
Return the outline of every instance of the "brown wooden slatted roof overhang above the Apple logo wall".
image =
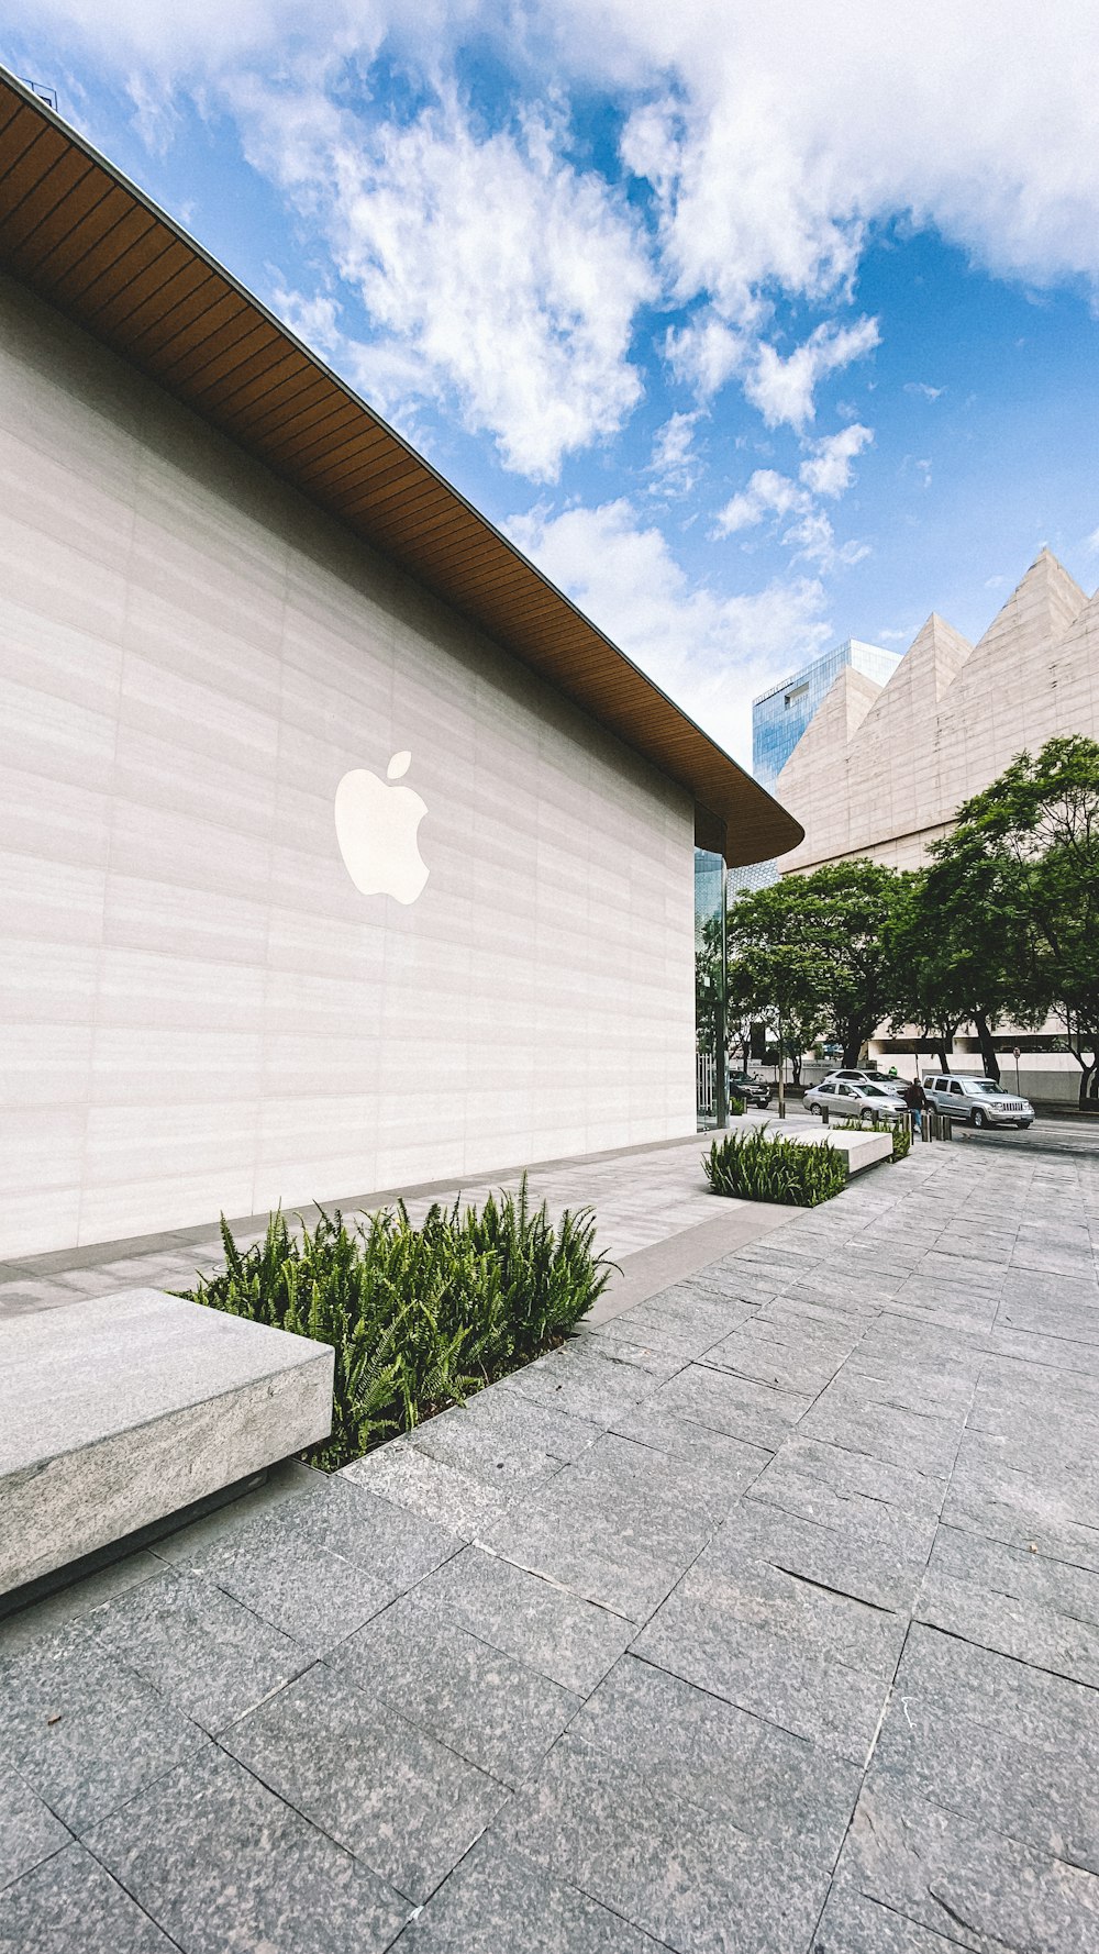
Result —
[[[448,481],[0,68],[0,266],[483,629],[694,799],[729,866],[802,827]]]

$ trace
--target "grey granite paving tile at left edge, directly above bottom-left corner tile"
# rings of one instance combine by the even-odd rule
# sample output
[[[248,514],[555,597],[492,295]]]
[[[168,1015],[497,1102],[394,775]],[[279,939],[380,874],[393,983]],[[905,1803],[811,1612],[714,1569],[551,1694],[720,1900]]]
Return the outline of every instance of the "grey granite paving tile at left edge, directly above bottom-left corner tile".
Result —
[[[80,1624],[0,1665],[0,1757],[76,1833],[207,1743]]]

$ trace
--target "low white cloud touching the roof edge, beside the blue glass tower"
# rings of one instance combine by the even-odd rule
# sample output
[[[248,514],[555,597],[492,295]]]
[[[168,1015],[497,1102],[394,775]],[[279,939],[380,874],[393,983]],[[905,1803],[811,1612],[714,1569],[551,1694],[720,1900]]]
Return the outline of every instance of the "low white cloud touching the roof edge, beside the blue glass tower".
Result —
[[[751,758],[751,700],[831,637],[817,578],[743,596],[692,584],[653,526],[628,502],[536,510],[508,524],[520,549],[741,762]]]

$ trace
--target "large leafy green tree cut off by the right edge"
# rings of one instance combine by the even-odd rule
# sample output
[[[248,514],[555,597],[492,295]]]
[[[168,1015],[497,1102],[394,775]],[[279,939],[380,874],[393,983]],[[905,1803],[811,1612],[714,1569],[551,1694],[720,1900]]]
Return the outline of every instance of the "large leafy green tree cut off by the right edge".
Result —
[[[1099,1098],[1099,744],[1017,754],[931,854],[929,901],[958,967],[976,959],[1021,1024],[1060,1018],[1079,1104]]]

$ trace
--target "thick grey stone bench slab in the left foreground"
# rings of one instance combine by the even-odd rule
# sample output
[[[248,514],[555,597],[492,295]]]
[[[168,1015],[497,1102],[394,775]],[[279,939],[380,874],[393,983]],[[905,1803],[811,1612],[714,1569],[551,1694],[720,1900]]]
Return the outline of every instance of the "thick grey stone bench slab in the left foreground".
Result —
[[[0,1327],[0,1596],[325,1438],[329,1344],[119,1290]]]

